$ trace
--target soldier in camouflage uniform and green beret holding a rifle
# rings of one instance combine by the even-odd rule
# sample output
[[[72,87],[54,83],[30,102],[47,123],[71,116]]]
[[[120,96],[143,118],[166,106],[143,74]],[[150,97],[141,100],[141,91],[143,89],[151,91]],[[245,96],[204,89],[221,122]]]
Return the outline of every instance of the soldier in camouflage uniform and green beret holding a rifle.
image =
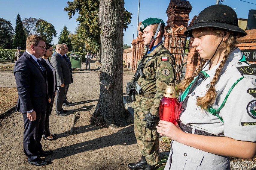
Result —
[[[142,159],[139,162],[128,164],[128,168],[132,170],[151,170],[159,161],[159,133],[155,128],[159,122],[159,102],[168,84],[175,79],[173,69],[175,59],[162,42],[165,25],[163,20],[148,18],[141,23],[140,31],[143,32],[144,45],[149,45],[160,22],[156,41],[152,50],[148,51],[144,62],[143,72],[146,78],[139,77],[137,81],[143,91],[141,95],[137,92],[135,95],[134,133]],[[132,83],[128,82],[126,88],[128,95],[131,95],[131,88]]]

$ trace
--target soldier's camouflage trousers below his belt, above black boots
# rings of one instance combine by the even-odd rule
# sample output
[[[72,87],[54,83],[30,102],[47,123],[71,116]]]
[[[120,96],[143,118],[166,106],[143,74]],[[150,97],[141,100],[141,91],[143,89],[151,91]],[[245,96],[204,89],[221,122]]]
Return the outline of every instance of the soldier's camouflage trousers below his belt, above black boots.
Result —
[[[146,121],[143,121],[147,112],[142,112],[134,109],[134,133],[139,145],[141,154],[145,156],[147,163],[151,166],[156,165],[159,161],[159,133],[156,130],[155,123],[154,130],[146,128]]]

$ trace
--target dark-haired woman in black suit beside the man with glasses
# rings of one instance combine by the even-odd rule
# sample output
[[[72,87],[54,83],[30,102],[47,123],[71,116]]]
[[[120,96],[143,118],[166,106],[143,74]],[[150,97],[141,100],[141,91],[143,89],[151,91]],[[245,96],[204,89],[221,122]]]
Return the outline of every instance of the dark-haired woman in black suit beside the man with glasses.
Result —
[[[40,57],[39,60],[41,61],[42,65],[44,66],[46,72],[47,72],[47,81],[48,81],[48,93],[50,98],[48,99],[49,104],[48,107],[46,109],[46,116],[45,116],[45,125],[44,125],[44,133],[43,133],[43,139],[47,139],[47,140],[55,140],[57,138],[55,138],[54,136],[56,136],[56,134],[50,133],[50,129],[49,129],[49,117],[50,114],[52,112],[52,108],[53,108],[53,101],[54,101],[54,97],[56,95],[56,90],[57,90],[57,85],[56,85],[56,72],[53,68],[53,66],[51,65],[51,63],[48,61],[48,57],[51,57],[53,54],[53,45],[45,42],[46,44],[46,52],[44,54],[44,56]]]

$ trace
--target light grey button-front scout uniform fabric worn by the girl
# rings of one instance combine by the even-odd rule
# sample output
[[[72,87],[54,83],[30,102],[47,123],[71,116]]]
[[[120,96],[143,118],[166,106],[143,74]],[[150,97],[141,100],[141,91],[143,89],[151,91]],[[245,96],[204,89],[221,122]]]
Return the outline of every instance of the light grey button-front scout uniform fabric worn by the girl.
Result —
[[[242,52],[236,48],[229,54],[224,67],[221,70],[218,81],[215,84],[217,91],[216,100],[212,106],[218,109],[224,101],[230,87],[242,76],[230,92],[224,107],[217,116],[202,110],[196,105],[198,97],[206,94],[210,81],[215,74],[219,64],[211,70],[206,66],[204,71],[209,75],[188,94],[187,107],[181,113],[180,120],[191,128],[204,130],[216,136],[227,136],[236,140],[256,141],[256,76],[255,72],[246,64],[241,62]],[[230,169],[229,157],[211,154],[196,148],[183,145],[179,142],[171,142],[171,151],[165,170],[175,169]]]

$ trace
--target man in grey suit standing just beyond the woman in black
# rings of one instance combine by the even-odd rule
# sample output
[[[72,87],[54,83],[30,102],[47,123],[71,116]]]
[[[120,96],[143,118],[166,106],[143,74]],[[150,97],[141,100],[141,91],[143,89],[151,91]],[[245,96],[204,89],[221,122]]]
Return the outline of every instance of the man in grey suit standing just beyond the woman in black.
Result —
[[[63,44],[57,44],[55,54],[51,57],[51,64],[56,71],[57,77],[57,95],[55,114],[58,116],[66,116],[68,110],[63,110],[62,104],[65,99],[66,90],[69,84],[73,83],[72,70],[69,63],[65,60],[65,48]]]

